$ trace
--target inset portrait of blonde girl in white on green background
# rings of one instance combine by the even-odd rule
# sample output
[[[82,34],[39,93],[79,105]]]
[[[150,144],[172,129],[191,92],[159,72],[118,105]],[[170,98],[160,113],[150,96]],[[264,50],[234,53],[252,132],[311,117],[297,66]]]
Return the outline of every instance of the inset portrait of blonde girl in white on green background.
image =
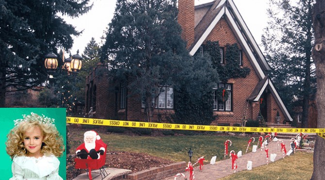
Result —
[[[3,180],[65,180],[65,108],[0,108]]]

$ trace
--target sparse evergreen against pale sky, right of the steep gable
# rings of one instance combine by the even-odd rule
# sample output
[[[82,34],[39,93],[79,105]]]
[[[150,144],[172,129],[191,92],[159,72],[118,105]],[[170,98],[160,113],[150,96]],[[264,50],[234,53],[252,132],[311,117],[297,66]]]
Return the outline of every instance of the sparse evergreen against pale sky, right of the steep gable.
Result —
[[[309,101],[315,94],[312,8],[314,0],[270,0],[270,22],[262,36],[271,77],[292,114],[302,105],[302,126],[308,125]],[[292,100],[294,99],[294,100]]]

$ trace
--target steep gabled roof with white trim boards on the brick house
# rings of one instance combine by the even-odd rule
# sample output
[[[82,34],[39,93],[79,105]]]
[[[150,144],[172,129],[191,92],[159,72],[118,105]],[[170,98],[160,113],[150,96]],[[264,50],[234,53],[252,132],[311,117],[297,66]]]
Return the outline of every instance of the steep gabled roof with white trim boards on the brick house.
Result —
[[[265,88],[268,87],[285,117],[292,121],[292,117],[277,94],[276,88],[265,73],[265,71],[271,70],[271,67],[266,62],[259,46],[248,30],[234,2],[232,0],[215,0],[205,5],[195,6],[195,8],[203,6],[211,7],[202,17],[201,21],[195,26],[194,43],[189,48],[190,54],[195,54],[215,25],[224,17],[260,78],[260,82],[256,85],[251,96],[247,100],[258,101]]]

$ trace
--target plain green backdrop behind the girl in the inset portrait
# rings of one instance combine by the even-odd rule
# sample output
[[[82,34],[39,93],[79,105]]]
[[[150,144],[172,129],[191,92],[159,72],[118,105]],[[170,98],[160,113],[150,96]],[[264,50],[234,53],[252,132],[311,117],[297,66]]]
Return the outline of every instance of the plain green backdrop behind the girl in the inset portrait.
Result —
[[[38,115],[45,115],[55,119],[55,126],[66,142],[66,126],[65,126],[65,108],[0,108],[0,158],[2,163],[0,165],[1,180],[9,180],[12,177],[11,164],[12,160],[6,153],[5,142],[7,140],[8,132],[14,127],[14,120],[22,119],[22,115],[30,115],[31,113]],[[59,175],[66,180],[66,154],[59,158],[60,167]]]

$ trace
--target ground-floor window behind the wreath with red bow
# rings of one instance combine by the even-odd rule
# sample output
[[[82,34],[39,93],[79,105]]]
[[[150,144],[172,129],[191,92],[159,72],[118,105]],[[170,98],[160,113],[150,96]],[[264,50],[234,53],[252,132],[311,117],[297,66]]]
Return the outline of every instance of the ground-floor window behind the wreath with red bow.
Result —
[[[227,91],[227,99],[220,99],[220,91],[218,89]],[[218,94],[219,93],[219,94]],[[219,99],[218,99],[219,97]],[[213,110],[215,111],[231,111],[232,107],[232,85],[226,83],[219,83],[218,87],[213,88]]]

